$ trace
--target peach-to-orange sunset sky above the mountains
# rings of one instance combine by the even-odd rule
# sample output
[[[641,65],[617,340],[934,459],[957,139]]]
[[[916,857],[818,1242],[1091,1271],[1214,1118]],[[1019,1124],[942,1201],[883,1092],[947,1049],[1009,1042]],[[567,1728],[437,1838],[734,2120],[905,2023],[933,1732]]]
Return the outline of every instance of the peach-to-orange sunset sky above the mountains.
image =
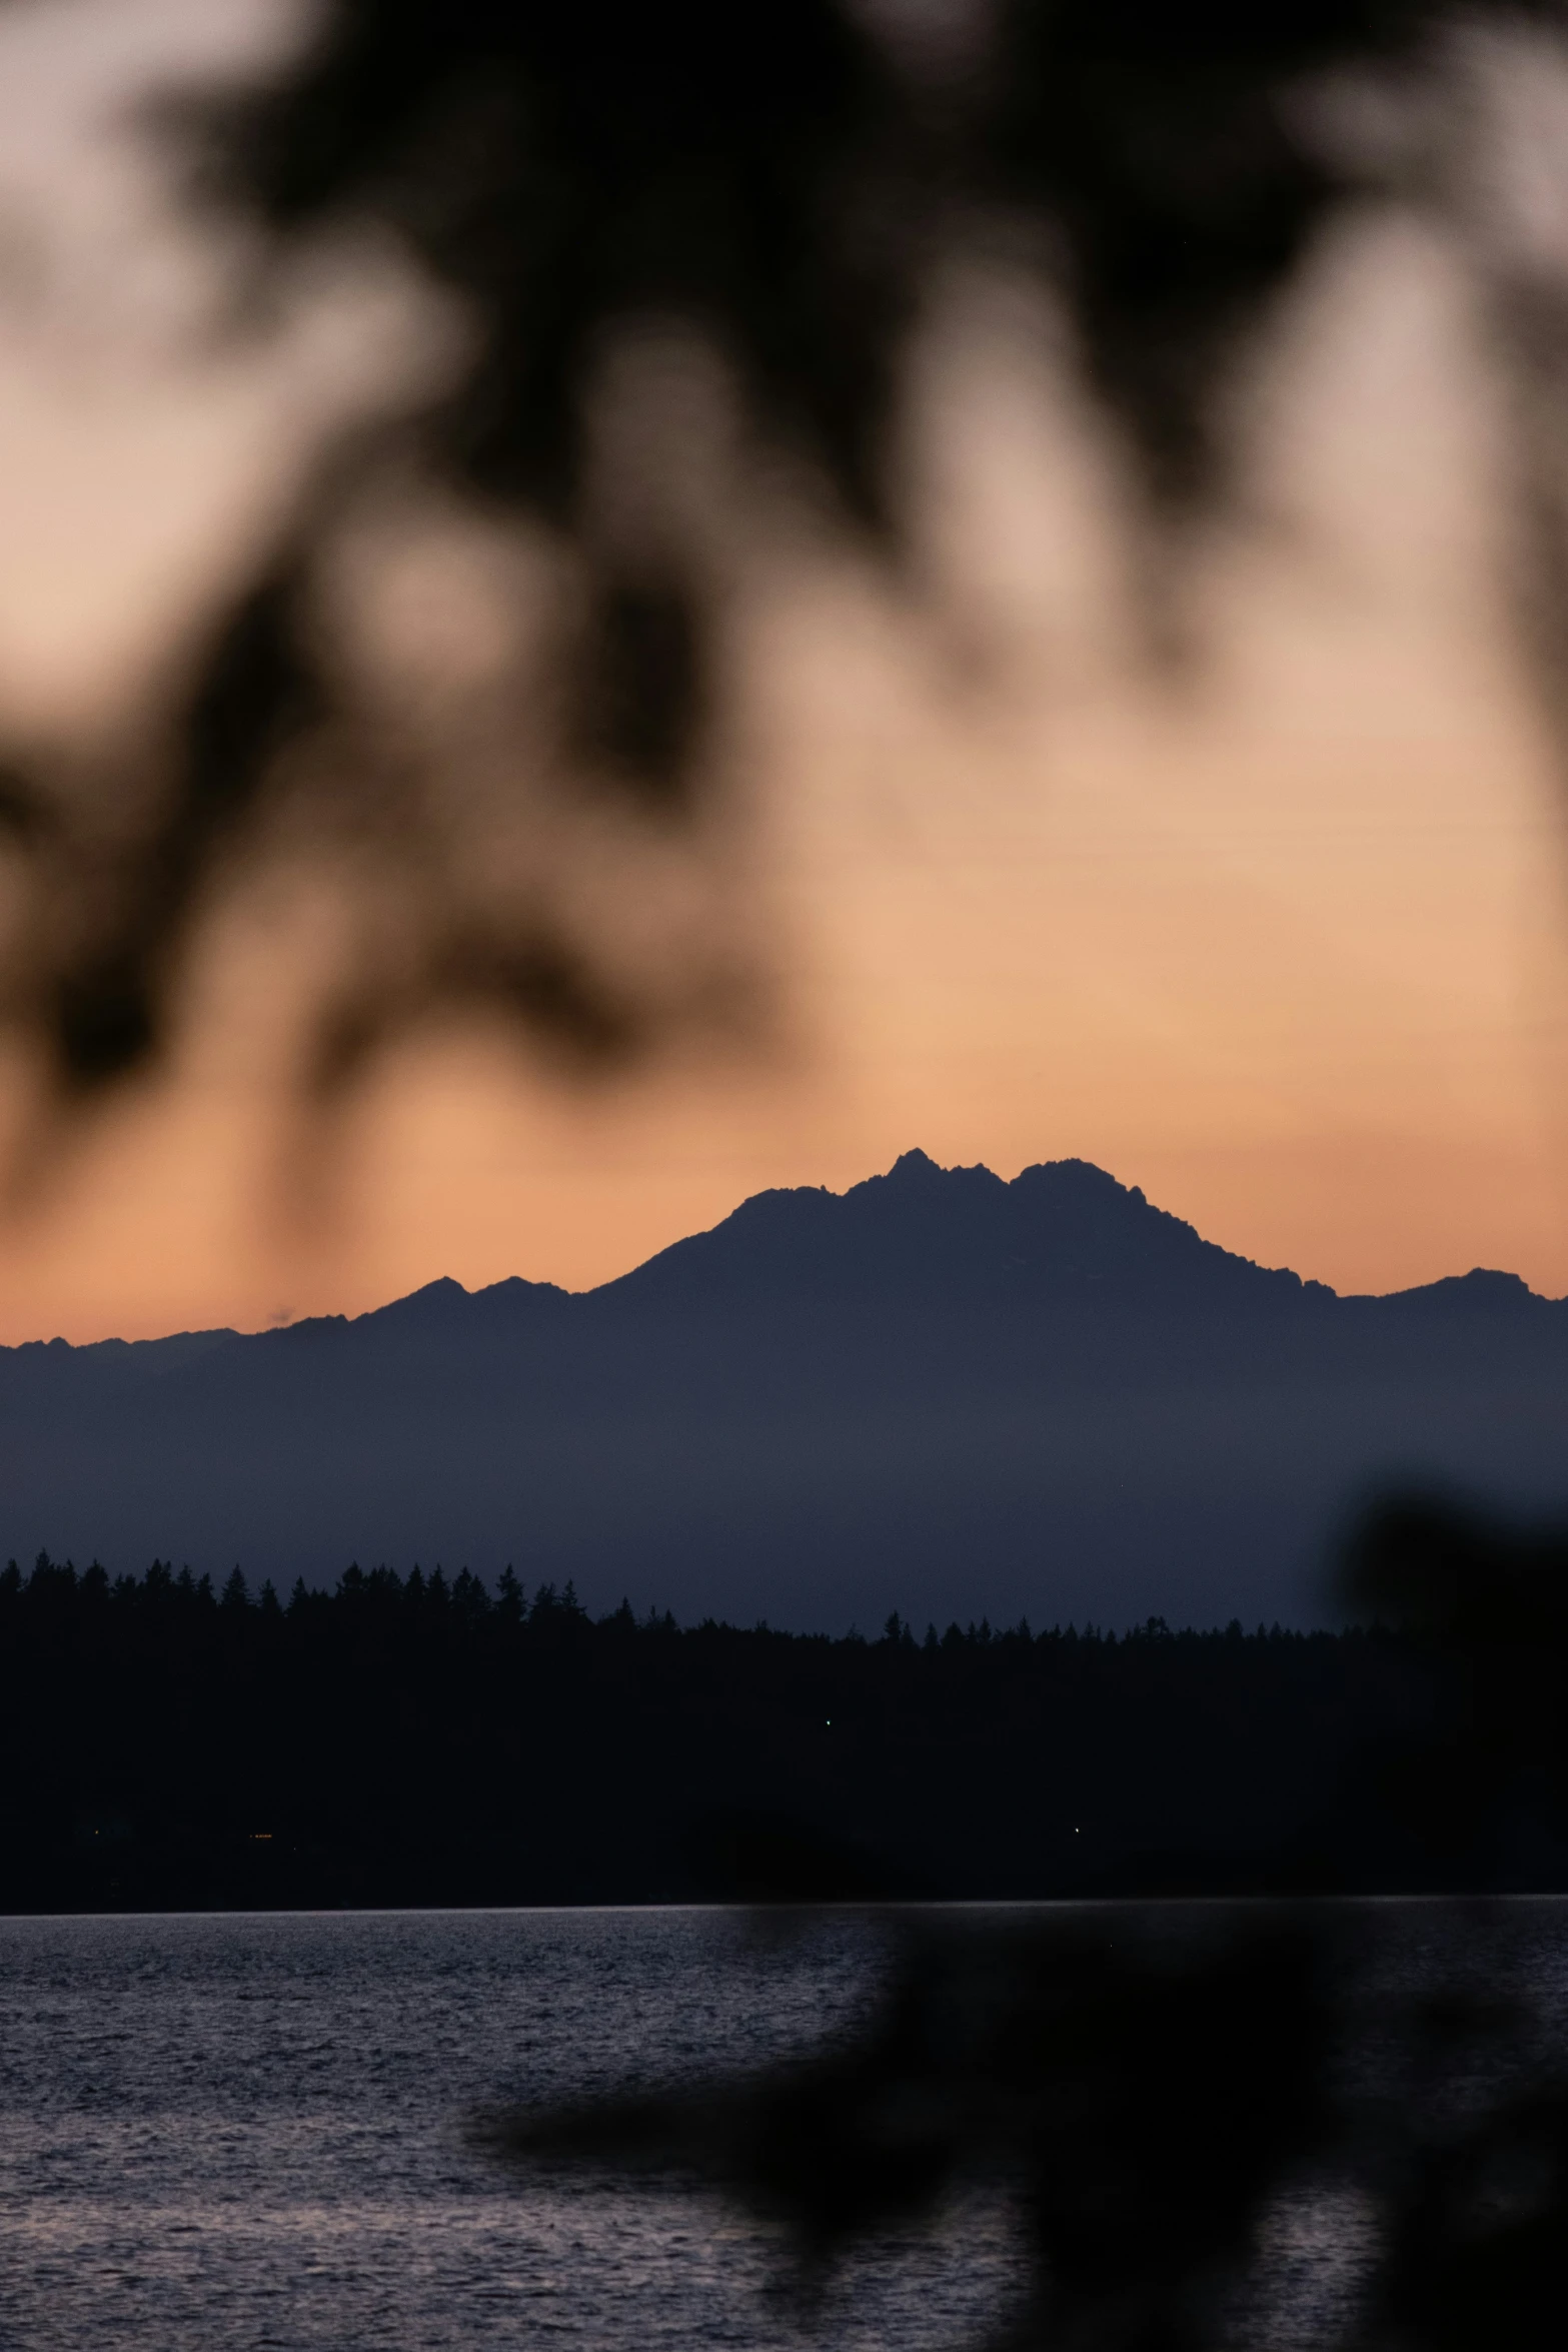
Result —
[[[223,12],[110,14],[181,56]],[[176,362],[202,275],[167,254],[115,308],[125,254],[165,249],[92,132],[122,80],[80,28],[110,14],[75,0],[0,73],[0,706],[33,731],[113,703],[322,419],[388,353],[418,365],[376,299],[263,367]],[[1401,223],[1324,254],[1239,412],[1258,456],[1180,590],[1208,647],[1180,680],[1131,659],[1114,468],[1004,292],[959,303],[922,414],[926,604],[802,567],[745,640],[773,1047],[581,1098],[425,1040],[303,1216],[242,1042],[266,955],[219,955],[176,1077],[0,1228],[0,1341],[355,1312],[435,1275],[581,1287],[914,1143],[1004,1176],[1098,1160],[1340,1289],[1486,1263],[1568,1291],[1559,786],[1448,263]]]

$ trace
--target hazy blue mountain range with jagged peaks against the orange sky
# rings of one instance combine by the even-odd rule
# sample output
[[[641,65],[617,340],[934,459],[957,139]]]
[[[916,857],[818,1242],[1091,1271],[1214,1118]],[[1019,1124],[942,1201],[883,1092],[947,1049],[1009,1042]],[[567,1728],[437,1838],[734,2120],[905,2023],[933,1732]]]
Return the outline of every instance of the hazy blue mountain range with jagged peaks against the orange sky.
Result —
[[[741,1623],[1305,1623],[1387,1489],[1568,1510],[1568,1301],[1342,1298],[1103,1169],[905,1152],[597,1291],[0,1350],[0,1555],[416,1559]]]

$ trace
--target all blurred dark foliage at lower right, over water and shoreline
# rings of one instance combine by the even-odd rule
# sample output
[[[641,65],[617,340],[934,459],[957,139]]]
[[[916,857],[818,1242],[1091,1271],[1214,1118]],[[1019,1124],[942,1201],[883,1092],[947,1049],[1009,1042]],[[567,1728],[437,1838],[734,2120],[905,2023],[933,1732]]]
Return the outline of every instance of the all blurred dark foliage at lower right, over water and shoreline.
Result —
[[[1455,1863],[1460,1884],[1509,1884],[1523,1773],[1561,1872],[1568,1545],[1399,1508],[1366,1526],[1352,1585],[1420,1630],[1450,1700],[1408,1771],[1371,1759],[1361,1806],[1420,1825],[1432,1884]],[[717,2185],[783,2220],[806,2288],[886,2223],[990,2192],[1023,2227],[1018,2347],[1544,2352],[1568,2324],[1568,2046],[1537,1992],[1483,1980],[1453,1915],[1425,1933],[1335,1903],[926,1917],[823,2058],[482,2129],[524,2169]],[[1305,2333],[1288,2263],[1269,2277],[1291,2199],[1340,2230],[1361,2216],[1333,2336]]]

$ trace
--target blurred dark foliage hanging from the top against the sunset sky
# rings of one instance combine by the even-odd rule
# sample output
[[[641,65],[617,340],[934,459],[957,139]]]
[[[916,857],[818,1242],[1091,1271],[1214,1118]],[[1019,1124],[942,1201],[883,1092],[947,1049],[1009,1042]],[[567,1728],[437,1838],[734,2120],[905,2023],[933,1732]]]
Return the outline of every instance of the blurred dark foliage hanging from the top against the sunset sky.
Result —
[[[1465,21],[1526,16],[1559,21]],[[738,567],[785,513],[896,560],[943,273],[1032,273],[1152,510],[1190,513],[1222,480],[1232,362],[1382,169],[1312,92],[1375,71],[1420,115],[1446,42],[1434,0],[324,0],[268,87],[165,108],[193,202],[259,240],[256,320],[270,270],[390,240],[463,353],[418,414],[327,452],[127,748],[139,793],[106,757],[134,804],[108,849],[47,781],[12,790],[38,884],[12,1009],[61,1080],[158,1054],[214,889],[280,833],[320,863],[353,844],[320,1084],[433,1002],[585,1061],[733,1014],[733,870],[708,849]],[[1403,195],[1441,209],[1446,186],[1422,167]],[[1540,390],[1544,313],[1514,280],[1497,320],[1530,313],[1509,348]],[[367,515],[520,550],[515,637],[456,708],[355,644],[334,564]]]

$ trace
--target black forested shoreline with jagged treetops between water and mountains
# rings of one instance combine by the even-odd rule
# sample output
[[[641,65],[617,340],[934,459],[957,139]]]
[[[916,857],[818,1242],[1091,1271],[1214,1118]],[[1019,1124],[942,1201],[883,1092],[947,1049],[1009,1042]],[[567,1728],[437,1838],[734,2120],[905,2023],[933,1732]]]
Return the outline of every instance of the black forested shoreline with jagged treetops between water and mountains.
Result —
[[[682,1628],[571,1585],[0,1573],[0,1905],[1420,1884],[1382,1630]]]

